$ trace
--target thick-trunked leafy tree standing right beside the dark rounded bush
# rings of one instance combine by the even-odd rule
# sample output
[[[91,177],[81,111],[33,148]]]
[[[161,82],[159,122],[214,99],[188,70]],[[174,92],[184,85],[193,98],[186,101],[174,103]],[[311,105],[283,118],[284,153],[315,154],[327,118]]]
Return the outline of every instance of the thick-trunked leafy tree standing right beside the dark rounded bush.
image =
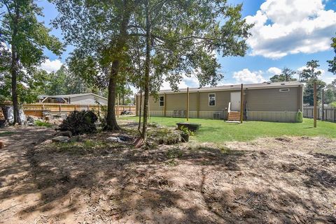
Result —
[[[53,24],[62,29],[66,42],[76,47],[69,59],[70,69],[95,80],[97,86],[108,87],[106,129],[119,130],[115,115],[116,87],[124,78],[120,72],[130,61],[128,43],[137,31],[131,23],[132,11],[139,1],[52,1],[60,13]]]

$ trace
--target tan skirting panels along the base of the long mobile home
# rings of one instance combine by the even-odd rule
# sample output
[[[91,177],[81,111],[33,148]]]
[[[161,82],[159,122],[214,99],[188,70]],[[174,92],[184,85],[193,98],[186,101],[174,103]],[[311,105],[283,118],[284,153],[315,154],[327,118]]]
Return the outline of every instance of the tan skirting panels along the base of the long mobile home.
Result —
[[[220,113],[221,119],[228,119],[226,111],[199,111],[198,118],[214,119],[214,114]],[[139,114],[139,111],[138,113]],[[174,111],[166,111],[166,117],[173,117]],[[165,117],[163,111],[151,111],[151,117]],[[245,116],[248,121],[275,121],[275,122],[295,122],[297,112],[267,112],[267,111],[248,111]],[[197,118],[197,111],[189,112],[190,118]]]

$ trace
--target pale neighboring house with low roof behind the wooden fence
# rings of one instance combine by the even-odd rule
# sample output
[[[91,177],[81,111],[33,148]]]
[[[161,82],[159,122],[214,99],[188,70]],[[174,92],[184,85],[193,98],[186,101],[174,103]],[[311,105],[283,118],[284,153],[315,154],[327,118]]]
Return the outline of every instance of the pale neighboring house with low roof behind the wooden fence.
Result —
[[[99,96],[97,94],[69,94],[69,95],[57,95],[38,96],[39,103],[69,103],[78,105],[94,105],[99,104],[107,105],[107,98]]]

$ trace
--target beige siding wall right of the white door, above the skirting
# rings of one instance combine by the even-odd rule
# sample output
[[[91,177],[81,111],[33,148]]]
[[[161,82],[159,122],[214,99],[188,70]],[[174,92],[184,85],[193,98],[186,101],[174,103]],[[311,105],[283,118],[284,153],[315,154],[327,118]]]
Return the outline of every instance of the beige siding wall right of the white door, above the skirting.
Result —
[[[289,89],[280,92],[280,89]],[[248,89],[246,94],[247,110],[260,112],[297,112],[297,88]]]

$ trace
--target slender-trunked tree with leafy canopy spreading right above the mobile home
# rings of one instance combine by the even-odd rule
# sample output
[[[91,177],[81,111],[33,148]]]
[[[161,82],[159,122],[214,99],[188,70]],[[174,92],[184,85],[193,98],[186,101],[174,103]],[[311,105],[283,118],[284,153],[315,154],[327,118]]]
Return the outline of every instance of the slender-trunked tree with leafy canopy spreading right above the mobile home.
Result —
[[[216,85],[223,77],[216,53],[244,56],[252,26],[241,18],[241,5],[229,6],[224,0],[144,0],[136,15],[146,43],[141,133],[146,141],[149,94],[160,89],[163,77],[175,90],[183,74],[195,75],[200,87]]]

